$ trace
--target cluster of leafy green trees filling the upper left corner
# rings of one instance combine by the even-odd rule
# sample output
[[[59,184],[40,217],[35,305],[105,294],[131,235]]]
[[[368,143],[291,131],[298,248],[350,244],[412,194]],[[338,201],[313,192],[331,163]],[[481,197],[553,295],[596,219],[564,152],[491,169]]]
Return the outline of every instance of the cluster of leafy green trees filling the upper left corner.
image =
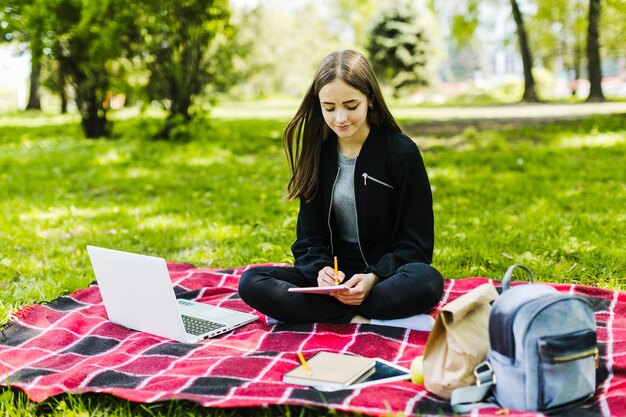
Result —
[[[189,122],[195,96],[232,82],[227,0],[1,2],[0,34],[30,41],[33,61],[47,54],[46,85],[73,87],[87,137],[109,135],[113,93],[132,96],[132,88],[145,87],[172,118]],[[162,136],[175,125],[180,117]]]

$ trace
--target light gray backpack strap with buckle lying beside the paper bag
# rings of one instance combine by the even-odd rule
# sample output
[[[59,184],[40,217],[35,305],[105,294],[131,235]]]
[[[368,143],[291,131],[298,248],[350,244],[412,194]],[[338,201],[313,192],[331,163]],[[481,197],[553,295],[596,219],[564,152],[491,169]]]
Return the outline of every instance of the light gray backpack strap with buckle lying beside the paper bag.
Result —
[[[491,395],[496,383],[496,376],[489,361],[484,361],[474,368],[476,386],[461,387],[450,393],[450,405],[455,413],[468,413],[472,410],[488,407],[500,407]]]

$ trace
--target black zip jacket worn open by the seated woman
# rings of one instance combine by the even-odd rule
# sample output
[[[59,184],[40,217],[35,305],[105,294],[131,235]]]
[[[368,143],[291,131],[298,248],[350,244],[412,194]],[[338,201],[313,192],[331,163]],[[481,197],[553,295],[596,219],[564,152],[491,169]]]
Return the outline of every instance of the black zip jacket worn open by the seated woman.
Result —
[[[331,266],[338,239],[331,207],[338,175],[337,138],[322,145],[317,193],[300,199],[295,267],[317,285],[317,274]],[[361,255],[381,279],[411,262],[432,261],[432,194],[422,156],[407,136],[371,128],[354,169],[354,192]]]

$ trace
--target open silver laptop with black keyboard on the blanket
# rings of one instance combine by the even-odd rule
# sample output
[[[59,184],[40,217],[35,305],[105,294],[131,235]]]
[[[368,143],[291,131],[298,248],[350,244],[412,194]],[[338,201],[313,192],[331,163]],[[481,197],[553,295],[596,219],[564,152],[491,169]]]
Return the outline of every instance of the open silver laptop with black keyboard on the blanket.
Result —
[[[229,332],[254,314],[176,299],[165,259],[87,246],[109,320],[183,343]]]

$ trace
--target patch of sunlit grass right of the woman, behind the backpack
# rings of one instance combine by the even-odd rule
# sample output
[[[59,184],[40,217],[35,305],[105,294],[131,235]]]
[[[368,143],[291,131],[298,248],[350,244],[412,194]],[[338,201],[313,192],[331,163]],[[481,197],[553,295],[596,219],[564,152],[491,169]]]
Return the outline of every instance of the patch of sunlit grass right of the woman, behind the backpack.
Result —
[[[467,129],[445,141],[424,138],[422,147],[444,276],[497,278],[522,262],[541,281],[623,288],[623,116]]]

